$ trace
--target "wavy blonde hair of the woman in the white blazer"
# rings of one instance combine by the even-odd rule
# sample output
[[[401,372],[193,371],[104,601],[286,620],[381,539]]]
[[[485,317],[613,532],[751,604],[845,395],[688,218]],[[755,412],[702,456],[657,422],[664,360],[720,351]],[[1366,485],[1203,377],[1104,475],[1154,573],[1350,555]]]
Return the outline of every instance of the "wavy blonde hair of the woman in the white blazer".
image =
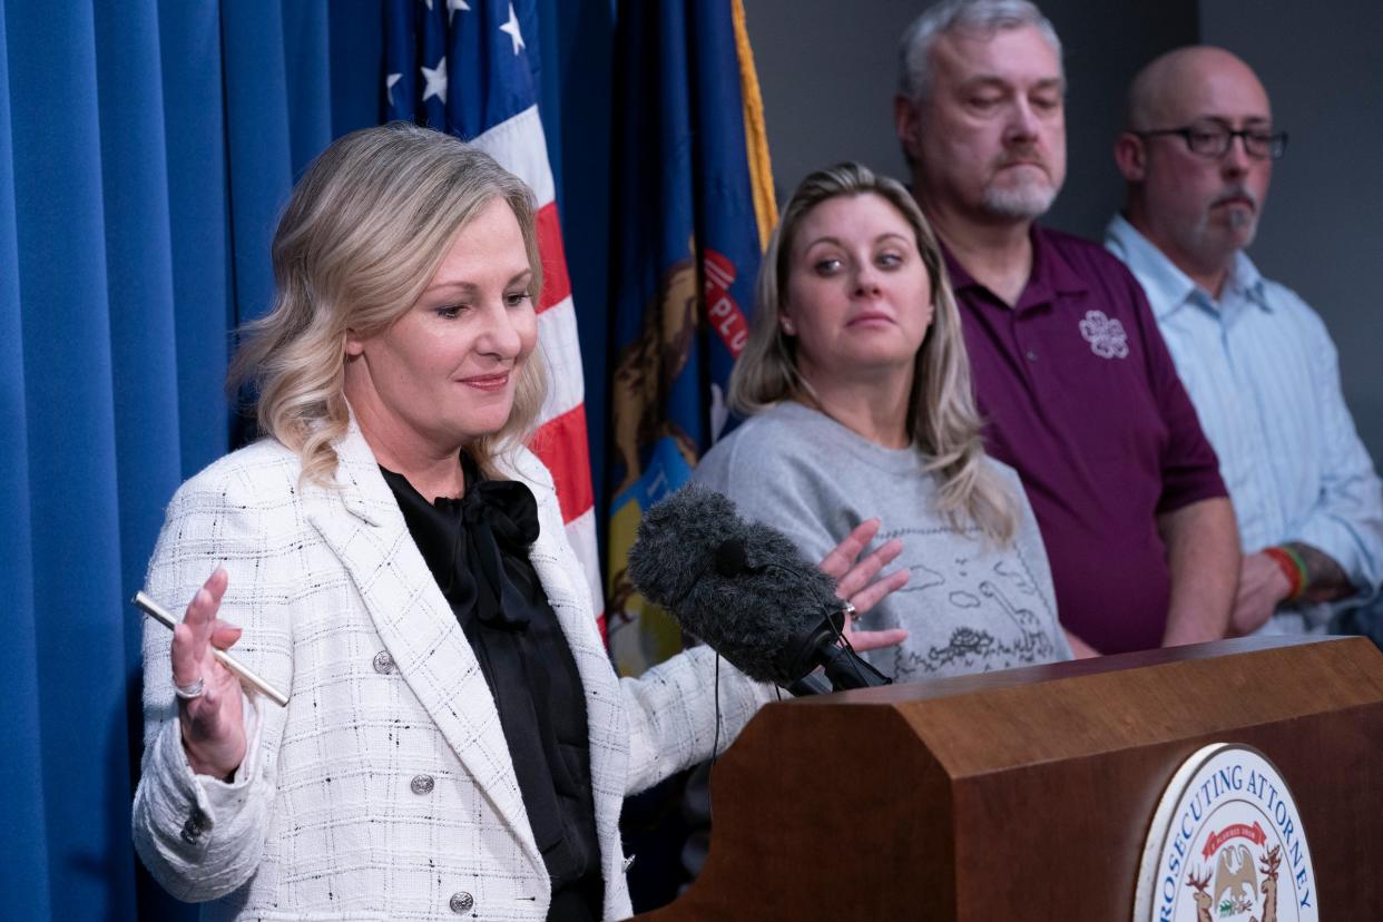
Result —
[[[346,434],[346,333],[383,330],[422,296],[451,242],[496,196],[519,221],[530,294],[542,289],[532,192],[484,151],[404,122],[354,131],[297,182],[274,235],[274,307],[242,328],[227,386],[259,391],[261,433],[329,484]],[[546,390],[541,351],[523,364],[503,429],[467,446],[488,473],[532,430]]]

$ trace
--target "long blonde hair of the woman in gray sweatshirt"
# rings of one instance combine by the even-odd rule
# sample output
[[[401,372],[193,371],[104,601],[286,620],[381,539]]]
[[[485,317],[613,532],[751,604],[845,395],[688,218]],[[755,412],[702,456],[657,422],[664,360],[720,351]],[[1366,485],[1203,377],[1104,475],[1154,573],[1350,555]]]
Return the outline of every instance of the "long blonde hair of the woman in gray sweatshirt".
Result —
[[[859,163],[839,163],[802,180],[783,210],[759,267],[750,339],[730,376],[729,404],[739,413],[752,415],[784,399],[817,402],[810,383],[798,372],[795,340],[783,333],[780,323],[787,307],[792,245],[802,221],[816,206],[856,195],[877,195],[898,209],[913,228],[931,279],[935,311],[927,339],[917,350],[909,397],[909,438],[925,456],[925,470],[940,480],[939,505],[952,528],[974,524],[1007,545],[1018,531],[1018,507],[1008,485],[985,463],[956,296],[931,225],[896,180],[875,176]]]

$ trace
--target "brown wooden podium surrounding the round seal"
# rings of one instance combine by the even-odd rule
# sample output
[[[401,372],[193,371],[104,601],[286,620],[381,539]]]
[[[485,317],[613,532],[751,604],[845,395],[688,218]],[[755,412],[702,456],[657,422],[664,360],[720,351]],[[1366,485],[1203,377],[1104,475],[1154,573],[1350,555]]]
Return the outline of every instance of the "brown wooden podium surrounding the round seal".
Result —
[[[1383,918],[1383,654],[1242,639],[765,708],[712,773],[678,919],[1133,914],[1173,771],[1261,749],[1300,809],[1322,919]]]

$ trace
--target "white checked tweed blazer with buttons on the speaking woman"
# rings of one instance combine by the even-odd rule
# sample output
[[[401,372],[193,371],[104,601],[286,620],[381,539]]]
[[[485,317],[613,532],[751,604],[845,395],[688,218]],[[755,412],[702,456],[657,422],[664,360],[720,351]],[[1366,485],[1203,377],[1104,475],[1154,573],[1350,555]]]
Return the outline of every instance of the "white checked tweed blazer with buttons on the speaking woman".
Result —
[[[181,610],[224,565],[236,655],[290,701],[248,699],[231,782],[195,775],[171,633],[147,625],[136,847],[174,896],[210,901],[207,919],[542,919],[548,872],[476,657],[354,423],[336,451],[335,488],[299,484],[296,453],[266,440],[173,498],[147,592]],[[714,658],[617,679],[550,476],[526,451],[506,474],[538,499],[530,560],[585,688],[604,915],[624,918],[621,805],[709,756]],[[727,744],[772,690],[722,666],[719,694]]]

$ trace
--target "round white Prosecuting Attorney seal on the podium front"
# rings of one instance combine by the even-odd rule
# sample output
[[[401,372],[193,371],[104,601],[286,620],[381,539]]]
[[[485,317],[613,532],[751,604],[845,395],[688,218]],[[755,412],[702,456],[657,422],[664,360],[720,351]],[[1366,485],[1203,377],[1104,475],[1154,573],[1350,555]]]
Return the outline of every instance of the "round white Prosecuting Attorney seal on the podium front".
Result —
[[[1134,922],[1317,922],[1315,869],[1286,781],[1217,742],[1171,775],[1142,847]]]

